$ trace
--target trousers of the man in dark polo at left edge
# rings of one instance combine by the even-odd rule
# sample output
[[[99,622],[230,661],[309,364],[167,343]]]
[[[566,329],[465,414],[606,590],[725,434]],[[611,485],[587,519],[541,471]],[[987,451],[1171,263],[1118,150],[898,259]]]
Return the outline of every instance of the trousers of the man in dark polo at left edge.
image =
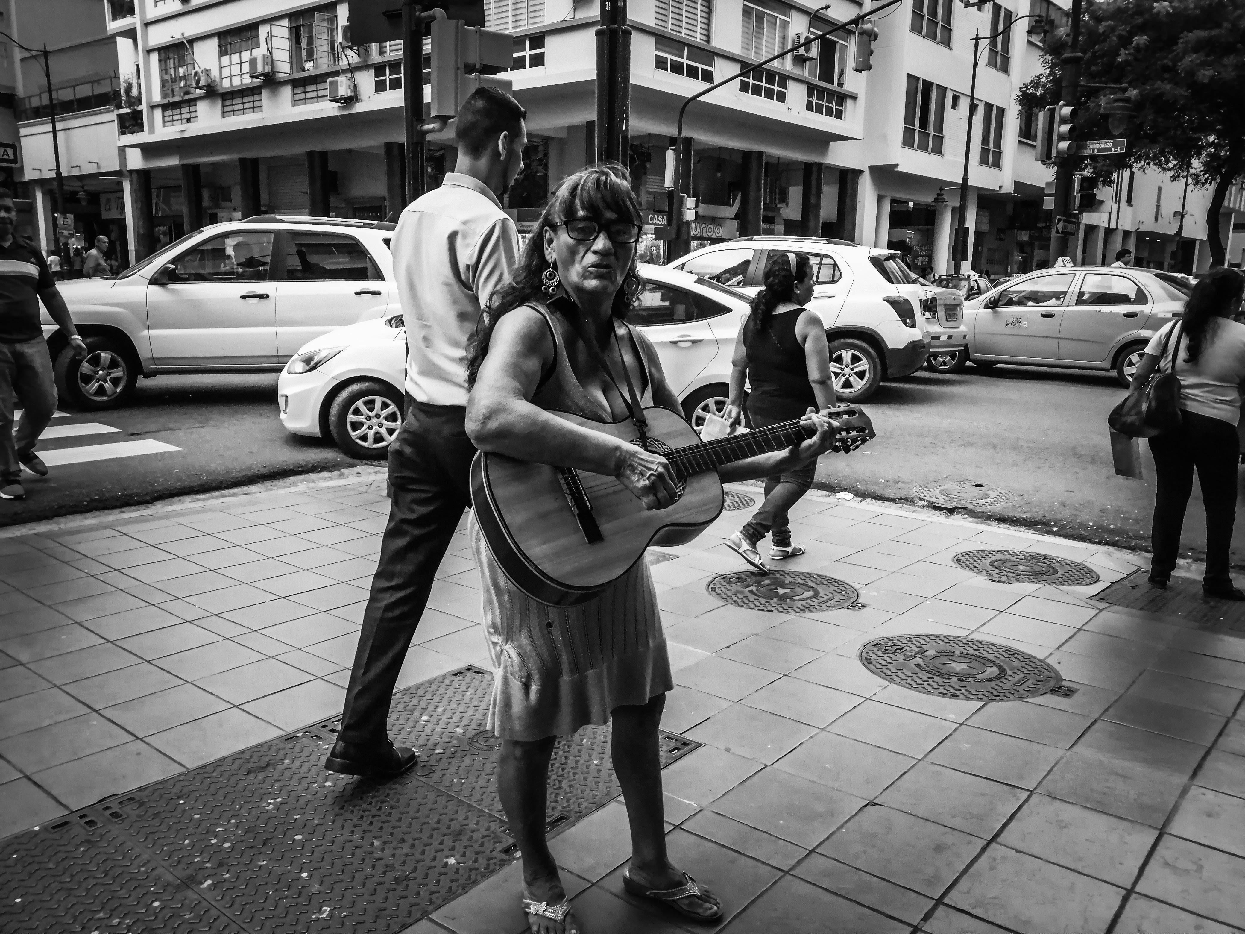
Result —
[[[21,402],[21,425],[12,433],[14,408]],[[52,356],[42,337],[10,344],[0,340],[0,483],[21,479],[21,462],[56,413]]]

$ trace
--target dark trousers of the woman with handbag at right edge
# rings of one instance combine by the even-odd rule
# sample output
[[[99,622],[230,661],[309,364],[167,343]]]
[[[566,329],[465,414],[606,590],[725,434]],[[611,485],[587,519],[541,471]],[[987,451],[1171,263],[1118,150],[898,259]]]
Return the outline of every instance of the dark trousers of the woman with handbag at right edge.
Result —
[[[1180,549],[1180,527],[1193,493],[1193,471],[1198,471],[1201,501],[1206,508],[1208,587],[1230,587],[1229,548],[1236,519],[1236,466],[1240,441],[1236,426],[1198,412],[1183,412],[1180,431],[1150,438],[1158,488],[1154,492],[1154,526],[1150,544],[1150,574],[1168,577],[1175,569]]]

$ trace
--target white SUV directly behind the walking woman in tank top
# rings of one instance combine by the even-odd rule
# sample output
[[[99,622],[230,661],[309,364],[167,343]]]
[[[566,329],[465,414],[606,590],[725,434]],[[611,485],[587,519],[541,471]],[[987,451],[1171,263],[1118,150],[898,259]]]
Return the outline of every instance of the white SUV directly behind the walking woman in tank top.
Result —
[[[931,310],[936,318],[937,299],[894,250],[818,237],[741,237],[670,265],[751,296],[762,288],[769,257],[792,252],[813,260],[815,285],[808,306],[825,325],[839,399],[864,401],[881,380],[921,367],[929,354],[923,314]]]

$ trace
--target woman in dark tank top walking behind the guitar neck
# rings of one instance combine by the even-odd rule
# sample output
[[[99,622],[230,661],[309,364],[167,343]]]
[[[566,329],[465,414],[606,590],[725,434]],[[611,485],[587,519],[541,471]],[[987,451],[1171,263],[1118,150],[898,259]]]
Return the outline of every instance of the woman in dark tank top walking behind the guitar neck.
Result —
[[[743,417],[743,385],[749,382],[748,416],[764,428],[809,410],[835,403],[825,326],[804,305],[813,298],[813,264],[803,253],[769,253],[764,288],[752,299],[752,314],[740,328],[731,360],[731,401],[726,418]],[[803,554],[792,544],[787,511],[813,486],[817,461],[766,477],[766,501],[726,544],[752,567],[764,570],[757,543],[769,535],[769,557]]]

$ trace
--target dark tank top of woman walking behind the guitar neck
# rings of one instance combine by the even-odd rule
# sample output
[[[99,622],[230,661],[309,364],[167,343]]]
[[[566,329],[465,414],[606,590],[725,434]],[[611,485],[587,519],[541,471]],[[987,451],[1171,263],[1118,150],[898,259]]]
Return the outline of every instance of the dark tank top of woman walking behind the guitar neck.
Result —
[[[748,415],[754,425],[773,425],[798,418],[817,396],[808,381],[804,349],[796,336],[796,324],[804,309],[793,308],[769,315],[768,326],[757,326],[749,315],[743,326],[743,346],[748,352]]]

